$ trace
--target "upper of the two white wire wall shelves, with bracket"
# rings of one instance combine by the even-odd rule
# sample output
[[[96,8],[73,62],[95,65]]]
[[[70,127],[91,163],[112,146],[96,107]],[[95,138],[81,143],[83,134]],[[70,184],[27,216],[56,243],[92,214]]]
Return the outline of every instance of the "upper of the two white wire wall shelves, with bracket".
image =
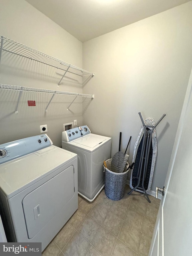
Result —
[[[18,56],[22,56],[46,65],[49,65],[54,68],[58,68],[64,71],[63,77],[67,72],[76,74],[81,77],[93,77],[95,73],[88,72],[82,68],[78,68],[76,66],[73,66],[67,62],[61,61],[59,59],[56,59],[52,56],[49,56],[45,53],[42,53],[38,50],[35,50],[31,47],[28,47],[24,44],[20,44],[12,39],[6,38],[2,35],[0,35],[1,38],[1,44],[0,44],[0,62],[1,62],[1,54],[3,51],[8,53],[13,53]],[[61,78],[61,80],[63,79]],[[59,81],[58,85],[61,83],[61,80]]]

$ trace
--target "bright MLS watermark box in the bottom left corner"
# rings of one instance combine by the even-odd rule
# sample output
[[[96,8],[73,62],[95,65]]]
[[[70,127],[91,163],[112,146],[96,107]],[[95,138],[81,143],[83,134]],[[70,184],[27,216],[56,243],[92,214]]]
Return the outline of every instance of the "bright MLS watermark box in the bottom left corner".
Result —
[[[41,243],[0,243],[0,255],[41,256]]]

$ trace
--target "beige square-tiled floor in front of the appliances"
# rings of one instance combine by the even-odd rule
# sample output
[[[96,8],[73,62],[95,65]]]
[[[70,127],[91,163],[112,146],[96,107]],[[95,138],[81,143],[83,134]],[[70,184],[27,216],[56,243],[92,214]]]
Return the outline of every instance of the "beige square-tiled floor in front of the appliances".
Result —
[[[92,202],[78,196],[78,210],[43,256],[148,256],[160,200],[138,192],[113,201],[104,190]]]

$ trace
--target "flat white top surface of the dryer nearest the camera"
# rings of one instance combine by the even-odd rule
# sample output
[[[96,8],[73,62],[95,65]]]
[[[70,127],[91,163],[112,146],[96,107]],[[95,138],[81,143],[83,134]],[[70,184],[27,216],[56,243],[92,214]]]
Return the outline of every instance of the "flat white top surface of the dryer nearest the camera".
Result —
[[[75,153],[49,146],[0,164],[0,189],[7,198],[13,197],[76,157]]]

